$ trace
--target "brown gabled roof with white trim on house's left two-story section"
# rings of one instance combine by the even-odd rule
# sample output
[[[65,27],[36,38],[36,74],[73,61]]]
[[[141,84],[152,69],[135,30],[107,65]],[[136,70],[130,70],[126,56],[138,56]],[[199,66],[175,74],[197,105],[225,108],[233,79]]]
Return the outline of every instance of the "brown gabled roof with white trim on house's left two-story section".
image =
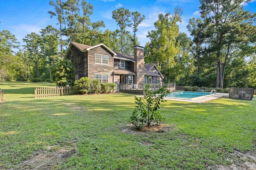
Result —
[[[68,50],[66,51],[66,54],[64,56],[64,58],[66,58],[66,55],[69,53],[72,45],[74,45],[76,48],[78,48],[80,51],[85,52],[85,51],[90,51],[90,49],[94,49],[96,47],[99,46],[103,46],[105,47],[110,53],[112,53],[113,55],[116,55],[116,53],[114,51],[112,51],[110,48],[108,48],[108,46],[106,46],[104,43],[98,44],[98,45],[94,45],[94,46],[90,46],[90,45],[84,45],[84,44],[80,44],[80,43],[75,43],[73,41],[71,41],[70,45],[68,46]]]

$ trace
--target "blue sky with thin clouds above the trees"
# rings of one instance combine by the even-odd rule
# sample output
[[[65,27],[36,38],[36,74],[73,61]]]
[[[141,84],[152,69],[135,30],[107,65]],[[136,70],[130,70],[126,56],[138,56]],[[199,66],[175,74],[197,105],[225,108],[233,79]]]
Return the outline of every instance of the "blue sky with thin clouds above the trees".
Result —
[[[154,29],[154,22],[158,14],[173,12],[176,6],[183,8],[182,22],[179,23],[180,32],[189,34],[186,29],[188,21],[192,17],[200,16],[199,0],[87,0],[94,6],[92,21],[103,20],[106,27],[102,30],[118,29],[118,25],[112,20],[112,11],[124,7],[130,11],[138,11],[146,16],[146,20],[139,26],[137,33],[140,45],[145,46],[149,41],[146,38],[148,31]],[[244,8],[256,12],[256,0],[245,4]],[[38,33],[47,25],[56,25],[56,18],[50,18],[48,11],[53,10],[49,0],[0,0],[0,31],[8,30],[16,36],[21,45],[22,38],[32,32]],[[131,29],[128,29],[132,31]]]

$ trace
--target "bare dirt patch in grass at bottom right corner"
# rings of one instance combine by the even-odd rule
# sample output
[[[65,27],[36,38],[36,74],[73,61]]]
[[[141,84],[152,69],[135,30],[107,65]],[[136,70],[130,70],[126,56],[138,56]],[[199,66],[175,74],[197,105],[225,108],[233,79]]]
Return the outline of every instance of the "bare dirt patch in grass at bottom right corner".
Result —
[[[236,160],[231,159],[228,166],[217,165],[216,170],[256,170],[256,150],[245,153],[236,150],[231,155]]]

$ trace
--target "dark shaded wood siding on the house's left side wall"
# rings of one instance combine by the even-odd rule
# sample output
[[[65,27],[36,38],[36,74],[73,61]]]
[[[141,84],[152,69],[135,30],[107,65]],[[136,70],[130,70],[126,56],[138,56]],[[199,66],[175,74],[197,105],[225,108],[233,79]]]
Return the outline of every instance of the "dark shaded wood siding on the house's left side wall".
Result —
[[[72,45],[67,59],[70,60],[75,67],[75,74],[78,75],[78,78],[88,76],[88,57],[87,52],[82,52]]]

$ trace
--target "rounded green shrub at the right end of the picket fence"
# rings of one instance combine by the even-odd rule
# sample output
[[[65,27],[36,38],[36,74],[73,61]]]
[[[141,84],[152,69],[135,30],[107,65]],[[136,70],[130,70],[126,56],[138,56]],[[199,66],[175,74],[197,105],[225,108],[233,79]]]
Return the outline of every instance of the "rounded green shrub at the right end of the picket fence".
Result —
[[[81,77],[74,82],[74,88],[81,94],[91,94],[92,80],[88,77]]]

